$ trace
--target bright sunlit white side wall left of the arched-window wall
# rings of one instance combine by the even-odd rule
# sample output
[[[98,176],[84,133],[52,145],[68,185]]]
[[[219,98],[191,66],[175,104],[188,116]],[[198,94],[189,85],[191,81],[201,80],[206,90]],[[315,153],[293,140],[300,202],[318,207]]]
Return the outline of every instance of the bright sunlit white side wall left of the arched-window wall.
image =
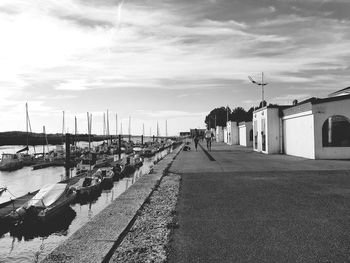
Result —
[[[314,116],[312,111],[283,117],[284,153],[315,159]]]

